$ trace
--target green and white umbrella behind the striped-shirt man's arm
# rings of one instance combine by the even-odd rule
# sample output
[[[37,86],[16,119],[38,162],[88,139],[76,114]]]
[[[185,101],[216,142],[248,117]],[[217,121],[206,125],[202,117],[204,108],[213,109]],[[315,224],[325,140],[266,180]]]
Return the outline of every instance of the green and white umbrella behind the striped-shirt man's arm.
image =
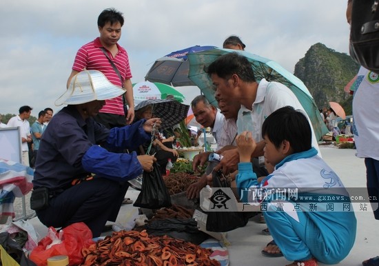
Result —
[[[166,99],[168,95],[174,96],[176,101],[183,103],[185,96],[170,85],[142,81],[133,84],[134,103],[139,104],[147,99]]]

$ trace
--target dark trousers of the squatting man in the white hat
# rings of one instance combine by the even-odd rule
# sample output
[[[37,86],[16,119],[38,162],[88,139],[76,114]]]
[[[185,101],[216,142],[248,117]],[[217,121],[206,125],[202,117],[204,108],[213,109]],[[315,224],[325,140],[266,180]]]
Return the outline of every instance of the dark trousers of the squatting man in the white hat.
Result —
[[[39,220],[47,227],[67,227],[83,222],[100,236],[107,221],[116,221],[129,183],[106,178],[94,178],[74,185],[50,198],[49,207],[37,211]]]

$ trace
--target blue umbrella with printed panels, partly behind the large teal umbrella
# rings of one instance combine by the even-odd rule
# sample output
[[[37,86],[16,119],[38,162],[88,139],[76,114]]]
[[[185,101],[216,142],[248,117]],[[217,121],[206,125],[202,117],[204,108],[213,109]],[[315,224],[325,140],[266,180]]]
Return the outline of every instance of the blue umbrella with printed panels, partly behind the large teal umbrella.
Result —
[[[188,79],[189,63],[187,54],[189,52],[199,52],[212,48],[214,48],[214,46],[196,45],[166,54],[165,57],[155,61],[152,68],[147,72],[145,80],[161,82],[175,87],[194,85],[194,83]]]

